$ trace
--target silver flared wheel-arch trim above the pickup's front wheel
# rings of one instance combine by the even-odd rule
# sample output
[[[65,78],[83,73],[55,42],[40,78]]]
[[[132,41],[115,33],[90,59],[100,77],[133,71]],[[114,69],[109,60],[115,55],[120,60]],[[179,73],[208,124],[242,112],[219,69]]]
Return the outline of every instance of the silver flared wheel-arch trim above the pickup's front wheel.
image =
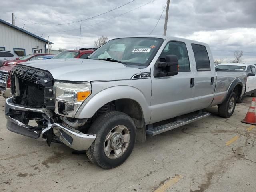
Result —
[[[89,99],[89,98],[88,98]],[[104,104],[118,99],[132,99],[140,105],[146,124],[150,122],[151,110],[144,94],[132,86],[113,86],[93,95],[82,103],[75,118],[91,118]]]

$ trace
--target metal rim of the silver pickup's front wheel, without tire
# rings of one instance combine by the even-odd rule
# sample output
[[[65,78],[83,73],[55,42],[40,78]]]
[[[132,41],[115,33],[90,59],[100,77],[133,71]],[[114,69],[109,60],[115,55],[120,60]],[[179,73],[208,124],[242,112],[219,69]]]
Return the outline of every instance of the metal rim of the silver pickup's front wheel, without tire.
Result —
[[[110,159],[119,158],[127,150],[130,143],[130,132],[124,125],[112,128],[104,142],[104,152]]]

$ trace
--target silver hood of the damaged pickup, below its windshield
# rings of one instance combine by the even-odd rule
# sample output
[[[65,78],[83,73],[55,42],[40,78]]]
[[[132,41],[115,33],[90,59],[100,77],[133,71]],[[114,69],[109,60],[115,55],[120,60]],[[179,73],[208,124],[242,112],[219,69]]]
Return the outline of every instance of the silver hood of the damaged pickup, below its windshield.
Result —
[[[107,81],[127,80],[140,73],[138,68],[126,67],[121,63],[93,59],[51,59],[22,62],[50,72],[54,80]]]

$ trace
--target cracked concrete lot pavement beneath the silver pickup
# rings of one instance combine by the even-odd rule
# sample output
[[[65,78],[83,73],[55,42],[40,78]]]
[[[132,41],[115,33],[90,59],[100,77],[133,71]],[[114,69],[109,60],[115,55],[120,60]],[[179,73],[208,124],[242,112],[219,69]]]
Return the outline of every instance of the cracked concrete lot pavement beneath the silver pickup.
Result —
[[[0,191],[256,192],[256,128],[240,122],[251,100],[229,119],[212,107],[208,118],[137,142],[124,164],[103,170],[64,144],[8,131],[0,98]]]

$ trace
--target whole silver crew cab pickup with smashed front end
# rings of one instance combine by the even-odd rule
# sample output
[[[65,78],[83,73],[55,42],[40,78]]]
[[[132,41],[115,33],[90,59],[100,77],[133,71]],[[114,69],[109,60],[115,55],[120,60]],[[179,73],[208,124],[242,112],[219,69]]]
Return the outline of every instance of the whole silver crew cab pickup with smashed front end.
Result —
[[[246,72],[215,72],[207,44],[166,36],[116,38],[88,59],[22,63],[6,99],[12,132],[84,151],[114,168],[145,142],[210,115],[229,118],[245,91]],[[38,126],[29,122],[35,120]]]

